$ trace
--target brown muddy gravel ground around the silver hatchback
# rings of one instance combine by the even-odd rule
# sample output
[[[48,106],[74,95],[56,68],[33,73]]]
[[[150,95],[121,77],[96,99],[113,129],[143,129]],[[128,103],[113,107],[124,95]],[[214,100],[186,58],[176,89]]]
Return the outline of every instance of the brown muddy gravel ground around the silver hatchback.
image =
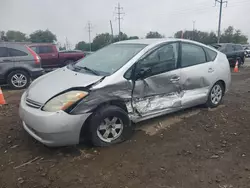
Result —
[[[232,82],[219,108],[145,121],[131,140],[110,148],[43,146],[22,129],[22,91],[6,90],[0,188],[250,187],[250,67],[233,73]]]

